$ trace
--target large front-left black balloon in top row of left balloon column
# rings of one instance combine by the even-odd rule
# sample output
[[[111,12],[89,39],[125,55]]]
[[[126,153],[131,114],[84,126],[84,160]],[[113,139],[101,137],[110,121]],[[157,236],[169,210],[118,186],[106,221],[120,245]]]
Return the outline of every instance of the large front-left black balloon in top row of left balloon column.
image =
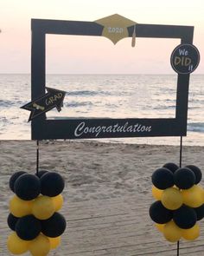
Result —
[[[15,182],[14,191],[22,200],[33,200],[41,193],[41,182],[35,174],[22,174]]]

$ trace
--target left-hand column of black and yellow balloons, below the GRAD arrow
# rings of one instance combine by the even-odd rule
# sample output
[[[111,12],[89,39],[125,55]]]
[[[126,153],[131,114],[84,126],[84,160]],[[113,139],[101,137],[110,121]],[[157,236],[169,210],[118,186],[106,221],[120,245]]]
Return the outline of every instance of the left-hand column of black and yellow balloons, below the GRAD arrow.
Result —
[[[41,170],[38,174],[16,172],[10,177],[10,200],[7,222],[13,233],[7,240],[10,253],[29,251],[46,256],[61,244],[66,220],[58,213],[63,204],[65,182],[60,174]]]

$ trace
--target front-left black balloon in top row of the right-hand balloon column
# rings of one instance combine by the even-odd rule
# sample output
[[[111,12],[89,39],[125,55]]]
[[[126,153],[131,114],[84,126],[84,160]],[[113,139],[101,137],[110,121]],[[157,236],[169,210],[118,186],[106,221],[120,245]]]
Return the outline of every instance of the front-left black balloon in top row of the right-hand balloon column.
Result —
[[[166,189],[174,186],[174,174],[168,168],[157,169],[151,176],[151,181],[155,187]]]

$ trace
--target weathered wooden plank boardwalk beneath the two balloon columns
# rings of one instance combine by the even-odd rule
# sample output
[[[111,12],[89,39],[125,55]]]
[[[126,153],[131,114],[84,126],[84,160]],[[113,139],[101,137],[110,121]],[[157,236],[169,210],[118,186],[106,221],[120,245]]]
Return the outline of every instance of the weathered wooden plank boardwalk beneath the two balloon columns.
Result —
[[[62,244],[53,256],[174,256],[176,244],[163,239],[152,225],[147,197],[67,202],[61,213],[67,219]],[[144,200],[145,199],[145,200]],[[0,255],[8,256],[6,220],[0,226]],[[181,241],[180,255],[204,255],[204,220],[201,236],[194,242]],[[29,255],[25,253],[23,255]]]

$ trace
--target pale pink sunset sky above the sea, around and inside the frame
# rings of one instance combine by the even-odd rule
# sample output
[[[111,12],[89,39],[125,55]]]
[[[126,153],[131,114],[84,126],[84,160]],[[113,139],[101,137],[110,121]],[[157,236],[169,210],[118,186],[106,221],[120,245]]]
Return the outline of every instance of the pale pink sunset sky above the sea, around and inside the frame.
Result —
[[[136,23],[194,26],[204,73],[203,0],[0,0],[0,73],[30,73],[31,18],[93,22],[118,13]],[[170,55],[178,39],[131,38],[114,45],[104,36],[46,38],[47,74],[175,74]]]

